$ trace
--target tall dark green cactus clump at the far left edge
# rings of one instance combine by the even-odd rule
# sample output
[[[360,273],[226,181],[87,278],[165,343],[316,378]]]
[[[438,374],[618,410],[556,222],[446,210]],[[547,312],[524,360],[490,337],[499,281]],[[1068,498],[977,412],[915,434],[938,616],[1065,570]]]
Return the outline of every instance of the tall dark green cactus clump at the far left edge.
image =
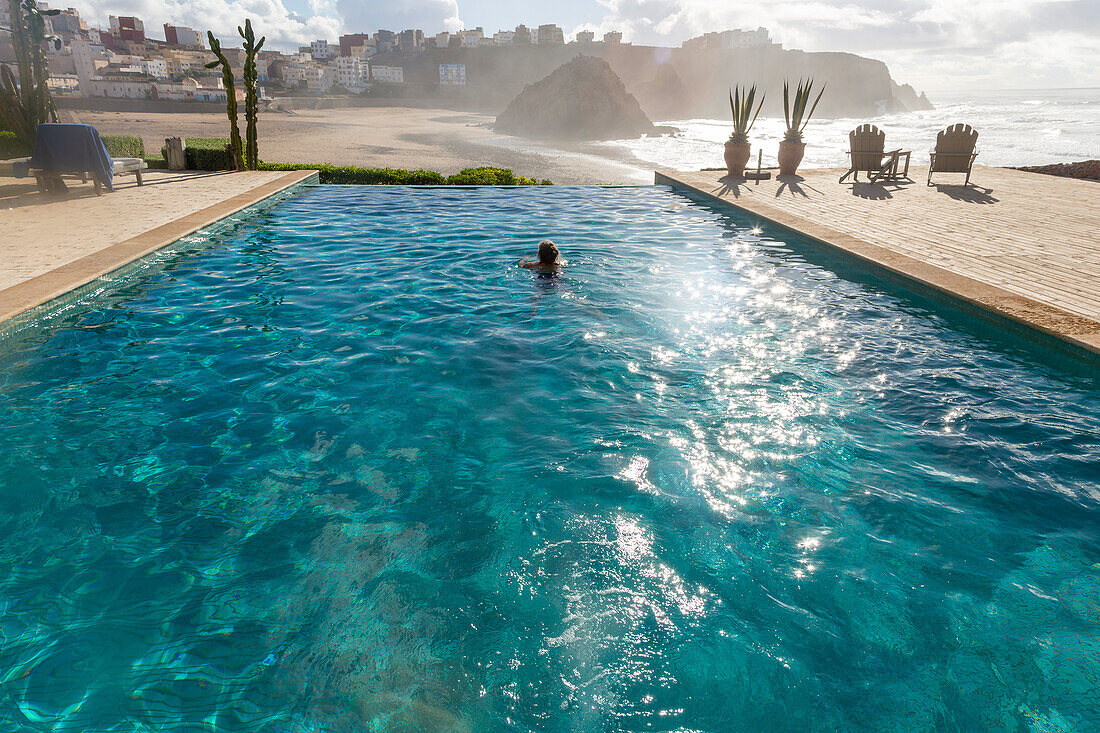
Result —
[[[61,40],[46,34],[48,15],[59,10],[41,10],[36,0],[8,0],[11,15],[12,50],[19,67],[19,79],[7,66],[0,73],[0,122],[15,133],[28,147],[34,146],[34,136],[41,122],[56,122],[57,110],[50,96],[50,65],[45,44],[61,47]]]

